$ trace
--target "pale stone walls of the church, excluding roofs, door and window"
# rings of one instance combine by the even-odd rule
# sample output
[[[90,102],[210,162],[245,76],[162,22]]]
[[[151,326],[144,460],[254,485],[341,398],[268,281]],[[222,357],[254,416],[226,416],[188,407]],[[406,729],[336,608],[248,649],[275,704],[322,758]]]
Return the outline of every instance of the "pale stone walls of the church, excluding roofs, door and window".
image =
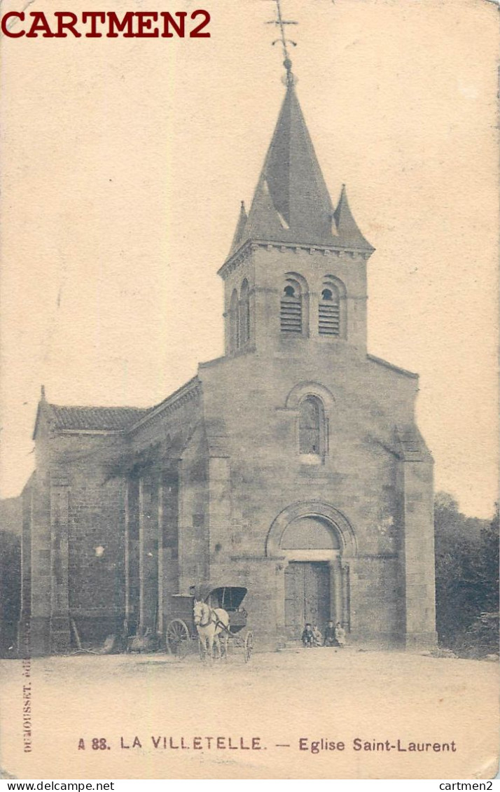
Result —
[[[296,261],[326,266],[316,253]],[[364,266],[349,275],[356,294]],[[271,286],[265,312],[277,309]],[[330,564],[351,641],[432,645],[432,459],[414,426],[417,379],[349,337],[263,344],[202,364],[128,433],[53,432],[42,415],[23,528],[32,653],[67,652],[76,630],[84,644],[164,633],[170,594],[207,583],[248,588],[258,643],[276,647],[285,569],[301,558]],[[311,394],[324,442],[304,455],[300,402]],[[307,515],[329,521],[334,555],[281,549],[286,520]]]

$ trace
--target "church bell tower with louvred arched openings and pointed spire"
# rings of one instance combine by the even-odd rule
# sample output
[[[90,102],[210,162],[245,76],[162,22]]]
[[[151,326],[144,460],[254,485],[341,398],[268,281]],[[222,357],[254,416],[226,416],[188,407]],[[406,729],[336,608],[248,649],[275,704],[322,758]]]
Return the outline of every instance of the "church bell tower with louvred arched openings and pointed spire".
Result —
[[[224,280],[226,355],[309,345],[366,352],[366,265],[374,248],[345,185],[332,204],[296,97],[286,93],[248,214],[242,204]]]

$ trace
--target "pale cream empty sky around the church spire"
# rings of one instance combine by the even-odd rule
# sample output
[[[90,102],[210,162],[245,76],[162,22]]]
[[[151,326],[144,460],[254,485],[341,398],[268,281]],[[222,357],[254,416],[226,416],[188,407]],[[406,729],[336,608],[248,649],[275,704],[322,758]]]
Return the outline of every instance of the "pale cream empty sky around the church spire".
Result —
[[[497,499],[498,9],[283,0],[332,200],[365,237],[368,348],[420,375],[437,489]],[[0,10],[25,0],[4,0]],[[0,43],[0,495],[49,402],[151,406],[223,352],[216,276],[280,109],[269,0],[85,3],[211,14],[209,39]],[[48,15],[55,0],[26,9]]]

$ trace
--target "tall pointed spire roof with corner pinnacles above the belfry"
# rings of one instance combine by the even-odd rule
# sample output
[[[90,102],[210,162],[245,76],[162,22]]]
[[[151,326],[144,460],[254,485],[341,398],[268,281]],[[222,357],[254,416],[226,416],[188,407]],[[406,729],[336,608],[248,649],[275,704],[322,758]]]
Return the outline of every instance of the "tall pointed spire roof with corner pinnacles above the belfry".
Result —
[[[285,63],[288,79],[281,112],[250,212],[248,217],[240,214],[230,255],[248,239],[372,250],[354,222],[345,191],[334,212],[291,67]]]

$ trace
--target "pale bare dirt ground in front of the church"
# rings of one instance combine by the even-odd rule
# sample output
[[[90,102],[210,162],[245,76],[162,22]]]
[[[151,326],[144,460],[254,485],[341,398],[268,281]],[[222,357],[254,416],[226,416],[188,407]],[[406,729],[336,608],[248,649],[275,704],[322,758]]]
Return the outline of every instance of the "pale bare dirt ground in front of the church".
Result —
[[[249,664],[237,653],[213,664],[79,655],[32,660],[29,677],[21,661],[0,672],[2,767],[19,779],[490,779],[497,769],[495,663],[347,647]]]

